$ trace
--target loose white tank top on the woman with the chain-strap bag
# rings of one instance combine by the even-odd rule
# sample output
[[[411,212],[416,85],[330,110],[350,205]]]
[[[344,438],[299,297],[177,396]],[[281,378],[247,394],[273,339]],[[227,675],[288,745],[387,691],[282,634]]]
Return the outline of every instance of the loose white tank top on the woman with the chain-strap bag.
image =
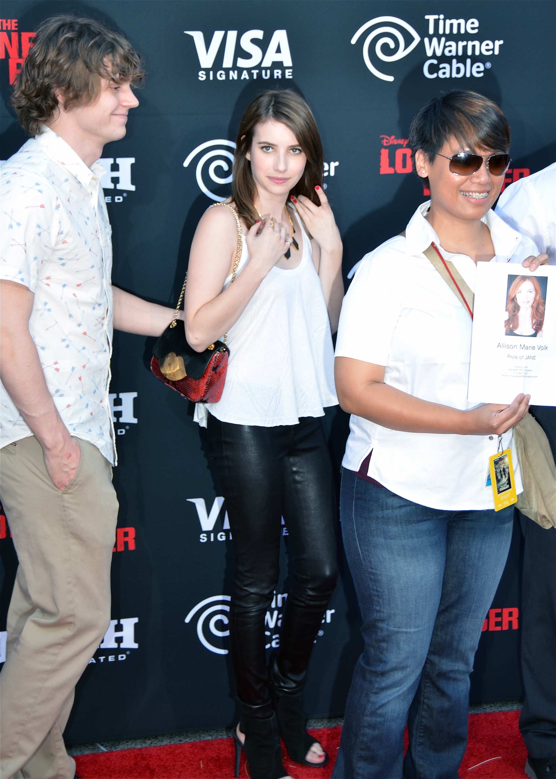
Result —
[[[196,404],[193,418],[201,427],[208,411],[223,422],[270,428],[322,417],[324,407],[338,404],[328,312],[303,224],[301,231],[299,265],[272,268],[228,330],[224,391],[218,403]],[[244,234],[238,274],[248,262]],[[232,274],[224,289],[231,280]]]

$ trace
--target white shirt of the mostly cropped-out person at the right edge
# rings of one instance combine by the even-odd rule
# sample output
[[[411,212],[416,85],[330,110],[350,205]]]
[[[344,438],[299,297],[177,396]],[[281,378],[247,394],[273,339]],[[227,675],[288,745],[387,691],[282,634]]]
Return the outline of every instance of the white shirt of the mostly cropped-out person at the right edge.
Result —
[[[539,252],[546,252],[548,262],[556,265],[556,162],[506,187],[496,213],[532,238]]]

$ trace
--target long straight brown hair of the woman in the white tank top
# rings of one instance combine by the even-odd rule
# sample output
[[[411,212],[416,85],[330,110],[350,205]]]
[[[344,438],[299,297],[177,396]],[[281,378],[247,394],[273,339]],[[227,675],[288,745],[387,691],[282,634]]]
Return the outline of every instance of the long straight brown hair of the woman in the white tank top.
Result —
[[[304,195],[317,206],[320,205],[315,187],[323,185],[324,153],[313,112],[303,97],[293,90],[267,90],[257,95],[247,107],[239,123],[236,139],[232,201],[236,203],[239,216],[247,227],[255,224],[259,217],[253,205],[255,182],[246,154],[251,149],[255,128],[261,122],[268,121],[282,122],[289,127],[307,158],[296,191],[291,190],[289,194]]]

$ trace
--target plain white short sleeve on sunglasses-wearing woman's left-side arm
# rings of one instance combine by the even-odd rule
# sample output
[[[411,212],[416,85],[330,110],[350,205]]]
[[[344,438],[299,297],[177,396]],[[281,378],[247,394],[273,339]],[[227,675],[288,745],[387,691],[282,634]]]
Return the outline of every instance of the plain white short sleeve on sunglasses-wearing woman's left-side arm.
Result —
[[[384,246],[363,257],[342,303],[336,357],[387,364],[402,308],[395,264]]]

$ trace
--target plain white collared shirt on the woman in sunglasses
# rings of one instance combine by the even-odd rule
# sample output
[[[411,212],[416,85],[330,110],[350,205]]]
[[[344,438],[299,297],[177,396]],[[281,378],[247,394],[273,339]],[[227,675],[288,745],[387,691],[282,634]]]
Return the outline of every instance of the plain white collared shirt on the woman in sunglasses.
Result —
[[[440,241],[424,218],[423,203],[409,221],[405,238],[397,236],[370,252],[359,265],[345,295],[336,357],[384,365],[384,383],[414,397],[462,410],[467,400],[472,320],[423,251]],[[521,263],[536,255],[533,242],[508,227],[490,210],[496,256],[490,262]],[[476,265],[466,255],[452,260],[473,290]],[[451,435],[390,430],[352,414],[342,465],[359,471],[372,449],[368,475],[402,498],[434,509],[491,509],[492,489],[485,486],[489,457],[498,436]],[[512,431],[502,436],[512,446]],[[515,485],[522,492],[513,453]]]

